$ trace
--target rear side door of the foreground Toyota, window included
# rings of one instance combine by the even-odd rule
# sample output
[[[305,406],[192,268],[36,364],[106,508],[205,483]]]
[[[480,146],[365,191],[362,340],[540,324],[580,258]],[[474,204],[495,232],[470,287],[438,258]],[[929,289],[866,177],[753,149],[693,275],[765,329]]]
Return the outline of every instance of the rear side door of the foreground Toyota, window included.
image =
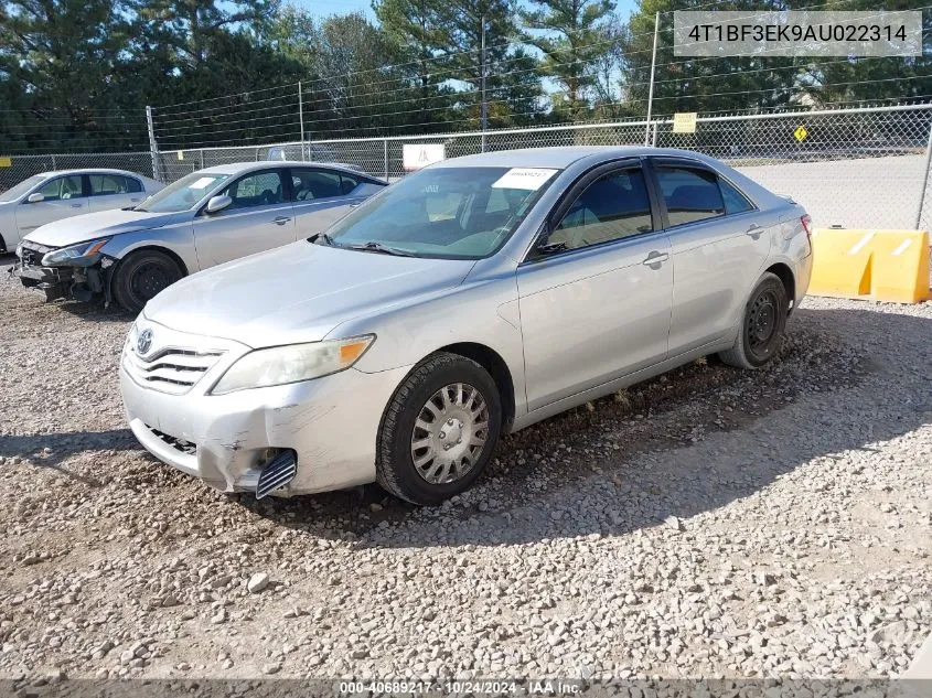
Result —
[[[649,162],[673,254],[669,354],[675,356],[731,332],[778,222],[704,163]]]

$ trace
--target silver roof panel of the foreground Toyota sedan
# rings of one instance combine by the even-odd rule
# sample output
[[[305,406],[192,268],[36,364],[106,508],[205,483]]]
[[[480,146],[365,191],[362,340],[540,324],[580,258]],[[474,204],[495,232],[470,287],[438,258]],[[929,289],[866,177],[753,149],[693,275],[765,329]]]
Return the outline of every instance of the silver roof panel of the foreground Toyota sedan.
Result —
[[[523,148],[519,150],[496,150],[475,155],[442,160],[431,168],[553,168],[563,170],[579,160],[615,160],[641,155],[672,155],[694,160],[711,160],[703,153],[675,148],[650,148],[646,146],[559,146],[554,148]]]

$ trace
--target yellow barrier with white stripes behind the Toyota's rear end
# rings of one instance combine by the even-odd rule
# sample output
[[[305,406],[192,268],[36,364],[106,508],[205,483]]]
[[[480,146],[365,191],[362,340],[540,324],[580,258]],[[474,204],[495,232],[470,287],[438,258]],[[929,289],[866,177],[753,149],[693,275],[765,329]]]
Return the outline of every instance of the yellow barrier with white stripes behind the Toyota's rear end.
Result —
[[[929,233],[818,228],[808,292],[920,303],[929,292]]]

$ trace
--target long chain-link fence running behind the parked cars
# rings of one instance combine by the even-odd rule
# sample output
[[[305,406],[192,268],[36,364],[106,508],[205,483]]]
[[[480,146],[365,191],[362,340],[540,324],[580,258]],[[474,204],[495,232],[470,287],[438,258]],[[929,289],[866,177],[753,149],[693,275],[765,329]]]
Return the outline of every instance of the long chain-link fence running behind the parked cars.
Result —
[[[673,119],[483,132],[347,138],[150,153],[20,155],[0,168],[0,190],[32,174],[67,168],[117,168],[163,182],[233,162],[339,162],[395,181],[406,174],[406,144],[442,144],[444,157],[558,146],[652,144],[713,155],[768,189],[789,194],[816,225],[929,228],[928,153],[932,105],[699,117],[695,132]],[[932,187],[930,187],[932,189]]]

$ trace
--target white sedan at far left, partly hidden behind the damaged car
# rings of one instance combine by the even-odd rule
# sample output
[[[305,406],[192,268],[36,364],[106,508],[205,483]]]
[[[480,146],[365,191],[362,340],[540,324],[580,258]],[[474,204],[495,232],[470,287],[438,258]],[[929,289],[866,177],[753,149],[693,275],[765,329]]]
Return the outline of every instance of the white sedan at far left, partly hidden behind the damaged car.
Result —
[[[41,225],[95,211],[135,206],[164,184],[124,170],[60,170],[23,180],[0,194],[0,253]]]

